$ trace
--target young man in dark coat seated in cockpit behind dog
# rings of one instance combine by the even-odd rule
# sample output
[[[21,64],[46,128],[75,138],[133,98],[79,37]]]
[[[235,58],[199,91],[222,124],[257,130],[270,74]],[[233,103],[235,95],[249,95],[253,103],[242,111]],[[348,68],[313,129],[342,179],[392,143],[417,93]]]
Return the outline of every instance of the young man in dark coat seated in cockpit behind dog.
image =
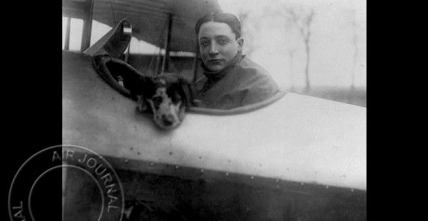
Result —
[[[195,25],[204,77],[196,81],[200,106],[230,109],[258,103],[277,93],[267,71],[242,54],[240,21],[233,14],[214,11]]]

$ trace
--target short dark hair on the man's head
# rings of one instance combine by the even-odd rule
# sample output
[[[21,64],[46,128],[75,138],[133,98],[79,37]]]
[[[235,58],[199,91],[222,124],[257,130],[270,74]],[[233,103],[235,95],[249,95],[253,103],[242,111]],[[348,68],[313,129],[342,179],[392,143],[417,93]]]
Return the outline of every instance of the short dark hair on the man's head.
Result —
[[[208,21],[215,21],[228,24],[235,33],[236,39],[240,38],[240,21],[234,14],[224,11],[208,11],[202,18],[200,18],[195,24],[196,36],[199,34],[199,29],[202,24]]]

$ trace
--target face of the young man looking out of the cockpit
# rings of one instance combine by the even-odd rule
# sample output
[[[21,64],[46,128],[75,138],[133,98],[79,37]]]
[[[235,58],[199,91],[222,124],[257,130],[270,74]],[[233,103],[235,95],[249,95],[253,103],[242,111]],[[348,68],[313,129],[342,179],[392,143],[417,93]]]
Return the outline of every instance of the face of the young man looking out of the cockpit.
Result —
[[[202,61],[210,71],[223,70],[243,46],[243,39],[235,40],[228,24],[215,21],[200,26],[198,41]]]

